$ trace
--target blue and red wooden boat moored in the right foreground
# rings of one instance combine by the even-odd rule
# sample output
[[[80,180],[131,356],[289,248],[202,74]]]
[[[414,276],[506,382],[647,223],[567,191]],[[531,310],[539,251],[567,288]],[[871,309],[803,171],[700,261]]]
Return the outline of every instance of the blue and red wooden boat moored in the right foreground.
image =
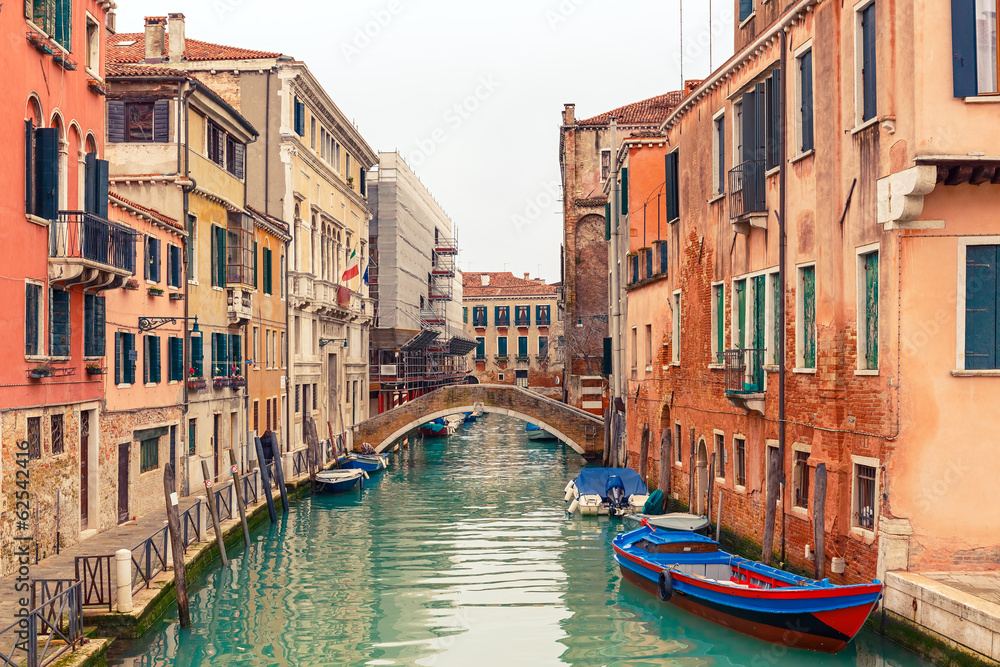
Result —
[[[836,653],[882,596],[878,579],[838,586],[734,556],[695,533],[643,526],[612,543],[622,576],[664,602],[775,644]]]

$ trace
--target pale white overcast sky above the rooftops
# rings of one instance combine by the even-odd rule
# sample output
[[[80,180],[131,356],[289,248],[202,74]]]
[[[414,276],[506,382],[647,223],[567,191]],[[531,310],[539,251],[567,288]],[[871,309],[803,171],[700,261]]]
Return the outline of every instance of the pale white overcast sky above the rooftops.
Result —
[[[559,280],[559,125],[680,87],[680,0],[118,0],[120,32],[305,61],[376,151],[398,150],[458,228],[461,267]],[[684,78],[731,54],[732,0],[687,0]],[[714,29],[710,29],[714,25]],[[541,273],[539,274],[539,271]]]

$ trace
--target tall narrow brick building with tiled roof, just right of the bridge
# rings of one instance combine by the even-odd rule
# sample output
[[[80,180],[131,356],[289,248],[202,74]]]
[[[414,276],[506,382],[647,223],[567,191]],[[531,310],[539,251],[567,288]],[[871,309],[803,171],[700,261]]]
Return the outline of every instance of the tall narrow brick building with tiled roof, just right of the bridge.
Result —
[[[618,141],[633,135],[658,135],[659,126],[680,100],[667,93],[585,120],[567,104],[560,127],[559,167],[563,191],[563,266],[560,308],[578,323],[566,331],[566,400],[603,415],[608,404],[604,339],[608,329],[608,230],[604,183],[611,173],[610,123]]]

